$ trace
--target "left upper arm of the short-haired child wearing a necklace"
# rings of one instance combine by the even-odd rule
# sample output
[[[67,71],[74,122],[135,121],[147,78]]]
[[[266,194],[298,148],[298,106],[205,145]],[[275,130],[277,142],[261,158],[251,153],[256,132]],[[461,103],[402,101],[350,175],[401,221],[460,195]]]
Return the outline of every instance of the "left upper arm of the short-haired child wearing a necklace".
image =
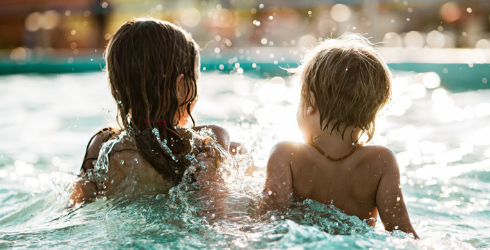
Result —
[[[272,148],[267,162],[267,176],[262,191],[259,209],[262,213],[269,210],[284,209],[291,204],[293,197],[293,176],[290,156],[292,147],[288,142],[280,142]]]

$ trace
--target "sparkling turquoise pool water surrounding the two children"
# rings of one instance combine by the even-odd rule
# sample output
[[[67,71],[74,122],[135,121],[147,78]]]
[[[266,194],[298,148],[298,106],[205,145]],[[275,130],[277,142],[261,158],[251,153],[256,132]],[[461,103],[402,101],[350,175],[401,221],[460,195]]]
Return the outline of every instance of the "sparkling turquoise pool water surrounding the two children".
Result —
[[[298,82],[204,73],[198,124],[223,124],[251,153],[235,160],[226,217],[199,209],[195,187],[66,209],[93,133],[115,124],[103,73],[0,77],[0,249],[473,249],[490,247],[490,91],[451,93],[437,75],[399,73],[373,142],[397,155],[421,240],[385,233],[313,201],[259,216],[270,148],[301,140]],[[226,105],[224,105],[226,104]],[[255,172],[243,173],[253,160]],[[240,180],[240,181],[237,181]]]

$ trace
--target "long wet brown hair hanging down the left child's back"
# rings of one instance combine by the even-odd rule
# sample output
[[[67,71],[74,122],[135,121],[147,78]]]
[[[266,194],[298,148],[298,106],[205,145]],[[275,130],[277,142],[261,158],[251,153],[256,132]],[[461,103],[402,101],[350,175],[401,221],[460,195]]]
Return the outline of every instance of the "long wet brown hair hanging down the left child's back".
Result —
[[[124,23],[105,52],[118,123],[131,131],[144,160],[174,184],[180,182],[188,165],[183,156],[190,147],[176,125],[183,116],[181,107],[190,115],[197,95],[197,55],[198,46],[185,30],[158,19]],[[176,92],[180,74],[186,84],[181,105]]]

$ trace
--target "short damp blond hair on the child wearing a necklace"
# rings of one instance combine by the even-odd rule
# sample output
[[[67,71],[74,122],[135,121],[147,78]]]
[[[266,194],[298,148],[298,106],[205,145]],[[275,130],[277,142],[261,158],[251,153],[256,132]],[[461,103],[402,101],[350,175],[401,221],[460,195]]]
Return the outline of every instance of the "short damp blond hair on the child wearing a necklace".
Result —
[[[348,126],[355,126],[371,140],[379,110],[390,100],[391,74],[368,39],[327,39],[293,71],[301,75],[305,105],[311,105],[313,93],[323,129],[330,126],[344,136]]]

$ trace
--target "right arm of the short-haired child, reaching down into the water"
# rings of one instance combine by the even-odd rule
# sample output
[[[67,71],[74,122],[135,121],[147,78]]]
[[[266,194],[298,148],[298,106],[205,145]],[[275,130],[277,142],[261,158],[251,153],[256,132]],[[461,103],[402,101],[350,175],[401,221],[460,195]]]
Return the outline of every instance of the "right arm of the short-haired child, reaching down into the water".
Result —
[[[401,193],[400,171],[394,154],[388,149],[382,153],[383,170],[376,190],[376,206],[383,226],[387,231],[401,230],[413,233],[419,238],[412,227],[403,194]]]

